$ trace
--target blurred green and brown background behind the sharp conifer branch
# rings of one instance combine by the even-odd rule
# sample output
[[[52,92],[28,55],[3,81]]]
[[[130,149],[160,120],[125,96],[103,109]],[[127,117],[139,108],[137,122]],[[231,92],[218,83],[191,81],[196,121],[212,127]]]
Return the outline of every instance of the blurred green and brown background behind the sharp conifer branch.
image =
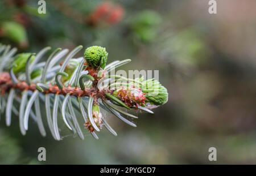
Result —
[[[37,2],[0,1],[2,44],[104,46],[109,62],[132,59],[122,69],[159,70],[169,100],[137,128],[108,115],[118,136],[102,130],[100,140],[85,130],[84,141],[55,141],[35,124],[22,136],[18,117],[7,128],[2,115],[0,164],[256,164],[256,1],[217,0],[212,15],[207,0],[46,0],[45,15]]]

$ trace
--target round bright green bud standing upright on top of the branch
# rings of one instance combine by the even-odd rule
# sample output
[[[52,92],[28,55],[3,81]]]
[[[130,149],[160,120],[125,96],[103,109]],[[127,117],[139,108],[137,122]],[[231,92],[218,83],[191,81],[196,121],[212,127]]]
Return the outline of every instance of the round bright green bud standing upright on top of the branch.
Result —
[[[105,68],[108,59],[108,52],[101,46],[90,46],[84,52],[84,58],[89,67]]]

